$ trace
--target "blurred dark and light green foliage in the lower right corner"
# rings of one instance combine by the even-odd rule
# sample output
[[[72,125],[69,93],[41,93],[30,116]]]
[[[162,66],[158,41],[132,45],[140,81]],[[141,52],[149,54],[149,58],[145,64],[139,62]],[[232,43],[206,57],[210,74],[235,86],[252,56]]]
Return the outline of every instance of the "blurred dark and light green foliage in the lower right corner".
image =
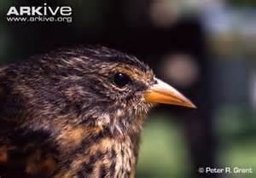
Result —
[[[220,165],[231,168],[251,168],[253,174],[242,174],[242,177],[255,177],[255,113],[253,114],[244,106],[225,106],[217,113],[214,129],[220,143],[218,151]]]

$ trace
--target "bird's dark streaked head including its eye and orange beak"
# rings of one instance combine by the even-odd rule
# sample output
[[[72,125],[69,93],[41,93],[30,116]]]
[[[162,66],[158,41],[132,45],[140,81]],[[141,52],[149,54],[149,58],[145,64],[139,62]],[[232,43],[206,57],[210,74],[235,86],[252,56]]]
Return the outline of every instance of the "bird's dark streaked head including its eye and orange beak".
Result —
[[[39,68],[44,74],[36,76],[47,72],[51,82],[46,83],[44,91],[39,89],[38,95],[44,97],[51,89],[50,93],[55,92],[52,100],[62,98],[58,106],[65,111],[61,113],[72,112],[83,123],[110,126],[113,132],[135,132],[155,103],[195,107],[136,57],[113,49],[60,49],[40,59]],[[40,88],[45,81],[46,77],[39,83]]]

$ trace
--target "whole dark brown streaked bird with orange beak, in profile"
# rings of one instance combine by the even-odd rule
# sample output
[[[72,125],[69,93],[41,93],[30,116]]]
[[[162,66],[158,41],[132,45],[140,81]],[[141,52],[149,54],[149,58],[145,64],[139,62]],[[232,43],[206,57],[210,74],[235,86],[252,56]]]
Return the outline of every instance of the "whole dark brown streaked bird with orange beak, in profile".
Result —
[[[3,65],[0,176],[133,178],[143,124],[158,103],[195,108],[148,65],[108,47]]]

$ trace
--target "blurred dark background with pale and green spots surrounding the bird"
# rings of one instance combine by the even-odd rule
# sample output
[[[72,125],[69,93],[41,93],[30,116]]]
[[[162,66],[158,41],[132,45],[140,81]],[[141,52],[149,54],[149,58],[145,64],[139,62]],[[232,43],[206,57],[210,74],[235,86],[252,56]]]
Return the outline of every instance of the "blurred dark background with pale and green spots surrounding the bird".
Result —
[[[70,6],[72,22],[8,21],[10,6]],[[256,176],[256,2],[253,0],[1,0],[0,62],[101,44],[136,55],[197,110],[149,115],[138,178]],[[252,168],[202,174],[199,168]]]

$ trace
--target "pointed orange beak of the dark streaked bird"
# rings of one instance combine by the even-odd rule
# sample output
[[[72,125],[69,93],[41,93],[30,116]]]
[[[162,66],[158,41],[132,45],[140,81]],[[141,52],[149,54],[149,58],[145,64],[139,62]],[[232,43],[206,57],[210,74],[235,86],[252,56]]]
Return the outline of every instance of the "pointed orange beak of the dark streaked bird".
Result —
[[[156,83],[144,93],[145,100],[154,103],[196,108],[196,106],[189,99],[178,92],[177,89],[174,89],[171,85],[161,81],[158,78],[154,79]]]

